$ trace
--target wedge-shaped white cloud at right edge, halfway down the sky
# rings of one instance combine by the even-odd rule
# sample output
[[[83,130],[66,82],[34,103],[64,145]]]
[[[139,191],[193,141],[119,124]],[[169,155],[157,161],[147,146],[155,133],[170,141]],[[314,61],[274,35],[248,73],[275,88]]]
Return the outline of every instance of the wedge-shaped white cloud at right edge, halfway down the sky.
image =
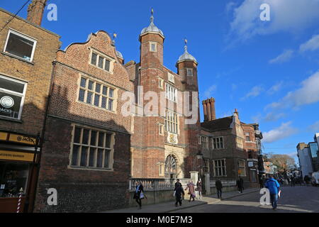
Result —
[[[299,106],[314,104],[319,101],[319,70],[301,82],[301,88],[289,92],[278,102],[266,106],[269,108],[298,108]]]

